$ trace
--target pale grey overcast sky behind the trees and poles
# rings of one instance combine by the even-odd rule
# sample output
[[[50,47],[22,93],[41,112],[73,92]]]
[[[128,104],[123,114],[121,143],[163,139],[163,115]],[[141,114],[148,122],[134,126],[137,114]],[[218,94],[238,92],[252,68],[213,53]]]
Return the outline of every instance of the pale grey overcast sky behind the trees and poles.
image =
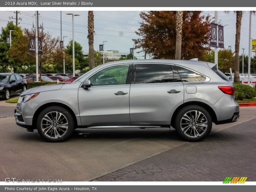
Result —
[[[72,16],[67,13],[79,14],[74,17],[75,41],[83,46],[83,51],[88,52],[87,40],[87,11],[62,11],[62,36],[65,37],[64,45],[72,39]],[[32,28],[35,24],[34,11],[20,11],[20,26]],[[60,11],[40,11],[39,25],[43,23],[44,30],[49,31],[53,36],[60,36]],[[138,38],[135,31],[140,27],[139,11],[94,11],[94,49],[99,50],[99,44],[105,42],[105,50],[118,50],[127,52],[133,47],[132,38]],[[214,11],[204,11],[202,14],[209,14],[214,17]],[[15,18],[13,11],[0,11],[0,27],[5,27],[9,17]],[[13,20],[13,19],[10,19]],[[15,20],[13,20],[15,22]],[[230,11],[228,14],[219,11],[219,21],[224,27],[224,46],[228,49],[231,46],[235,51],[236,14]],[[256,38],[256,15],[252,15],[252,38]],[[248,55],[249,46],[249,12],[243,13],[240,54],[245,48],[244,54]],[[135,50],[136,51],[136,50]],[[254,53],[252,53],[254,54]],[[138,59],[143,59],[143,53],[135,53]]]

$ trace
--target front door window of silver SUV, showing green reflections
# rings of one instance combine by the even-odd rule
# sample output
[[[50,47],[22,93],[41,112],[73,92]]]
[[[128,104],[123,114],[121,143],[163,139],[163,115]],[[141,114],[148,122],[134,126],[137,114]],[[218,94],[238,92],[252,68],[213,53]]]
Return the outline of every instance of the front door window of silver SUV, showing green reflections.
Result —
[[[126,84],[129,65],[117,65],[102,69],[90,80],[92,86],[124,85]]]

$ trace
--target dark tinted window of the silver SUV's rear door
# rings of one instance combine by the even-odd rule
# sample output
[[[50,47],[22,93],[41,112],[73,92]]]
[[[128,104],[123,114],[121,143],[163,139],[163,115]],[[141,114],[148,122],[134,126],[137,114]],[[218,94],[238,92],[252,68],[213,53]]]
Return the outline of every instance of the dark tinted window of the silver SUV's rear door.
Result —
[[[172,83],[180,81],[180,77],[172,71],[170,65],[165,64],[137,64],[135,84]],[[175,80],[174,80],[175,79]]]

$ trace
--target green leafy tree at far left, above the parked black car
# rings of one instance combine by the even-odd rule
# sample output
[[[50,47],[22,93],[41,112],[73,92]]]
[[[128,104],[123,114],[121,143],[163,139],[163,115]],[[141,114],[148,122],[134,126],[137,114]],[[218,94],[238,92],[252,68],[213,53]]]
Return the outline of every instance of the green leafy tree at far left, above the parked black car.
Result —
[[[10,44],[6,42],[6,37],[10,36],[10,30],[15,30],[12,32],[12,46],[15,47],[19,44],[19,37],[22,37],[22,29],[19,26],[13,24],[9,21],[5,28],[1,28],[0,34],[0,65],[5,70],[12,68],[14,72],[17,72],[17,67],[23,64],[21,60],[15,60],[12,53],[10,52]]]

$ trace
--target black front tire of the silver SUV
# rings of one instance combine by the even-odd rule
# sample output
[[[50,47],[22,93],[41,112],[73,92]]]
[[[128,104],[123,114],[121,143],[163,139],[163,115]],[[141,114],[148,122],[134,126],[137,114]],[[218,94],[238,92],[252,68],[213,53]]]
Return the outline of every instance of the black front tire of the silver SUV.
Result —
[[[53,119],[54,119],[54,113],[56,114],[56,112],[61,114],[60,115],[61,116],[60,120],[65,117],[63,121],[65,121],[65,122],[67,121],[67,123],[68,123],[68,125],[66,126],[67,129],[66,128],[64,129],[62,127],[60,129],[60,127],[58,127],[57,123],[55,123],[54,126],[56,128],[56,131],[59,130],[60,133],[63,133],[63,135],[60,134],[60,137],[58,136],[58,134],[55,134],[54,126],[52,128],[50,128],[49,132],[47,132],[47,133],[43,132],[43,128],[45,128],[44,126],[48,126],[48,125],[44,124],[44,122],[48,122],[48,121],[44,120],[45,119],[45,115],[47,115],[47,114],[51,115],[51,113],[52,113],[53,114]],[[56,119],[56,117],[55,117],[55,119]],[[51,122],[48,122],[48,123],[49,123],[49,126],[50,126],[50,124],[52,124]],[[44,125],[42,125],[42,124],[44,124]],[[70,138],[70,136],[72,135],[72,133],[74,131],[75,123],[74,123],[73,116],[70,114],[70,112],[66,108],[63,108],[63,107],[60,107],[60,106],[51,106],[51,107],[45,108],[39,114],[39,116],[37,118],[37,122],[36,122],[36,127],[37,127],[38,133],[40,134],[41,137],[44,138],[44,140],[49,141],[49,142],[62,142],[62,141],[67,140],[68,138]],[[47,128],[47,130],[48,130],[48,128]],[[64,131],[66,130],[66,132],[64,133],[63,130]],[[52,133],[52,135],[53,134],[57,135],[58,138],[50,137],[50,133]]]

